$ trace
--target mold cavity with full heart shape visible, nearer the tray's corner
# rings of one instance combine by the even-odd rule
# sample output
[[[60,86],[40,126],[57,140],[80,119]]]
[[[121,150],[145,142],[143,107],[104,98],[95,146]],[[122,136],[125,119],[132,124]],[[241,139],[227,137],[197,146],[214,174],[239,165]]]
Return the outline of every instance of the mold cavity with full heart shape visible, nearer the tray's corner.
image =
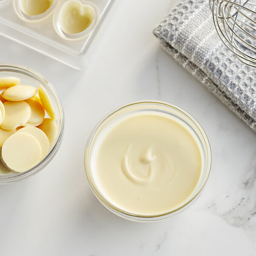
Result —
[[[77,34],[89,29],[95,22],[95,10],[79,0],[68,0],[58,14],[61,30],[67,34]]]

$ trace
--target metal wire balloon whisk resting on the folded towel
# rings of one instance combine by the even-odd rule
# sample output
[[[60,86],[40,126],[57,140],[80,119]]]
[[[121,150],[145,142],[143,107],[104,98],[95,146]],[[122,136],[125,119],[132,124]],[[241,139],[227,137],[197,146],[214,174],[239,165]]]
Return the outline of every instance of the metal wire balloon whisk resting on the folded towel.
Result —
[[[224,44],[245,64],[256,67],[256,0],[209,0]]]

